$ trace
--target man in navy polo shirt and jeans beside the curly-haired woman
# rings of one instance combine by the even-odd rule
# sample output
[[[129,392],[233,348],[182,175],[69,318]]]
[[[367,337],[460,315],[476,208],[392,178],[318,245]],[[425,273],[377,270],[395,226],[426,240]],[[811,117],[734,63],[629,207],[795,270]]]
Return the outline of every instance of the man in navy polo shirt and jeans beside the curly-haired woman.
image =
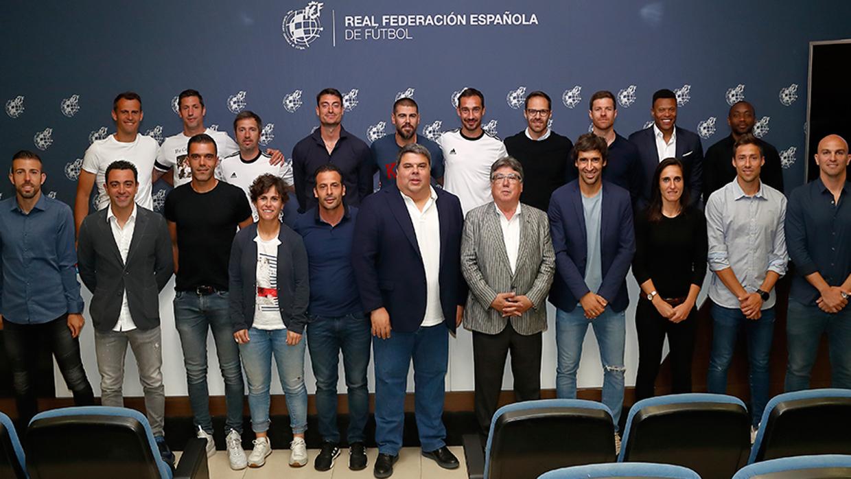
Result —
[[[295,231],[305,239],[310,266],[311,322],[307,347],[311,350],[313,375],[317,380],[317,413],[322,450],[313,463],[316,470],[334,467],[340,454],[337,429],[337,370],[340,352],[346,370],[349,399],[349,469],[367,466],[364,429],[369,417],[367,367],[369,365],[369,320],[357,292],[351,266],[351,243],[357,208],[346,206],[343,174],[333,164],[317,168],[313,195],[318,206],[301,214]]]

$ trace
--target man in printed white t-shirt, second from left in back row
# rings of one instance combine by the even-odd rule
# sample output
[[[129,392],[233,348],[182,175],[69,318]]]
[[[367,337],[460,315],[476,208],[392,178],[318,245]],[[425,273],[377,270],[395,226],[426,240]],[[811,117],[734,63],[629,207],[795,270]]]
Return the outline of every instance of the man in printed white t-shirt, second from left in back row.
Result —
[[[189,160],[186,157],[186,144],[196,134],[208,134],[216,144],[219,157],[225,158],[239,151],[237,142],[231,140],[226,132],[204,127],[204,116],[207,108],[204,99],[197,90],[186,89],[177,96],[178,114],[183,120],[183,131],[174,136],[169,136],[163,141],[157,152],[157,162],[154,163],[154,183],[163,177],[163,180],[172,186],[180,186],[192,180]],[[271,155],[271,163],[283,163],[283,154],[277,150],[268,150]],[[168,174],[171,171],[172,174]],[[216,177],[222,180],[221,172],[217,167]]]

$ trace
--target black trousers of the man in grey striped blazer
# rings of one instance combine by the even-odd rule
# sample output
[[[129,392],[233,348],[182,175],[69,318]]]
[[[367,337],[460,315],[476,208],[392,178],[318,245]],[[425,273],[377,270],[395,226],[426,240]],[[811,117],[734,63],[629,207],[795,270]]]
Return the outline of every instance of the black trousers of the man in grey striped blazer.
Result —
[[[511,351],[514,399],[540,399],[541,334],[518,334],[511,328],[511,322],[499,334],[473,331],[473,370],[476,377],[473,409],[483,437],[488,436],[490,420],[500,400],[508,351]]]

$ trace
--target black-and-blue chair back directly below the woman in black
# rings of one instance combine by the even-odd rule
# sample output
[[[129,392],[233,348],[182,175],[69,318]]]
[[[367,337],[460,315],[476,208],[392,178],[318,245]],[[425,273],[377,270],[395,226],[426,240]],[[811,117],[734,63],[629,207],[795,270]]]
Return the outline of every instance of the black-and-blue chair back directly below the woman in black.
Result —
[[[733,476],[751,447],[745,403],[722,394],[673,394],[636,402],[620,462],[683,465],[701,477]]]

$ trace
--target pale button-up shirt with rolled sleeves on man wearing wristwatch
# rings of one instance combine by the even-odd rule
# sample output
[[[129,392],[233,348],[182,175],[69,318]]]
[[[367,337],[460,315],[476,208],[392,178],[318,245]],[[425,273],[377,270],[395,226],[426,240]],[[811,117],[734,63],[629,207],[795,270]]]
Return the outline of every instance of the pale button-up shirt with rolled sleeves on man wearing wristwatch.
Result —
[[[760,182],[757,194],[749,197],[738,180],[715,191],[706,202],[706,233],[709,240],[709,267],[712,271],[732,268],[742,287],[753,293],[762,285],[768,271],[785,275],[788,255],[783,193]],[[774,306],[774,288],[768,292],[762,309]],[[709,297],[725,308],[739,308],[739,299],[717,275],[709,283]]]

